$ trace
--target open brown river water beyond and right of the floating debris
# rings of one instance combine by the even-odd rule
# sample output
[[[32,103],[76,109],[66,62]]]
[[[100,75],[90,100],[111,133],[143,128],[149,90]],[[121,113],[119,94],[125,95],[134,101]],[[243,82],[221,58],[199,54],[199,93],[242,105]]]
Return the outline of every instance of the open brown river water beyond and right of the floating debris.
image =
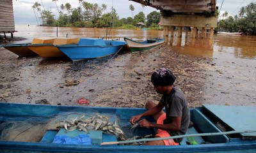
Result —
[[[15,43],[29,43],[33,38],[56,38],[57,31],[59,38],[108,37],[120,40],[124,37],[134,40],[163,38],[163,31],[57,28],[36,25],[15,25],[15,29],[18,32],[14,36],[27,38]],[[214,101],[216,104],[256,105],[256,36],[214,34],[214,38],[209,40],[185,38],[183,33],[182,39],[174,37],[170,46],[179,54],[208,57],[212,60],[212,67],[207,69],[208,84],[204,85],[203,103]]]

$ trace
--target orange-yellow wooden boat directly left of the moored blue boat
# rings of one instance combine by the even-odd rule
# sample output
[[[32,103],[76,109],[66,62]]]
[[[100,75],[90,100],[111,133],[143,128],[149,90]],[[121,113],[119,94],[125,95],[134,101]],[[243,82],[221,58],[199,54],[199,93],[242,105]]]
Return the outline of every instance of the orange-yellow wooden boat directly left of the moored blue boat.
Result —
[[[55,45],[77,44],[78,41],[79,38],[55,38],[52,44],[35,44],[29,45],[28,48],[43,58],[63,57],[65,54]]]

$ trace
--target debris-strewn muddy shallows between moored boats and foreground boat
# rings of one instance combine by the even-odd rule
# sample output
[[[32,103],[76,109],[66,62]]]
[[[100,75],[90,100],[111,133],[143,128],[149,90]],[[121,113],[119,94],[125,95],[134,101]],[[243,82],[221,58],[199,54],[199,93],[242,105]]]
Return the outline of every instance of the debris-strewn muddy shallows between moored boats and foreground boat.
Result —
[[[144,52],[72,63],[67,58],[18,58],[1,48],[1,101],[51,105],[143,107],[161,95],[150,82],[157,68],[168,68],[190,107],[202,104],[203,85],[211,59],[189,57],[161,45]],[[79,104],[79,99],[88,103]]]

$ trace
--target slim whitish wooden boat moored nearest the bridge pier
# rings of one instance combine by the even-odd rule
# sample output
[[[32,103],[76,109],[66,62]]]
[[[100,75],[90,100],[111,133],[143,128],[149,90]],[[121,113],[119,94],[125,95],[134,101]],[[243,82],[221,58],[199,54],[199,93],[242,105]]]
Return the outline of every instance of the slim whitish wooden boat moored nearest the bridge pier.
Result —
[[[148,50],[164,43],[164,39],[159,38],[153,38],[152,40],[145,40],[142,42],[134,41],[129,38],[124,38],[124,40],[127,42],[127,45],[131,49],[131,52]]]

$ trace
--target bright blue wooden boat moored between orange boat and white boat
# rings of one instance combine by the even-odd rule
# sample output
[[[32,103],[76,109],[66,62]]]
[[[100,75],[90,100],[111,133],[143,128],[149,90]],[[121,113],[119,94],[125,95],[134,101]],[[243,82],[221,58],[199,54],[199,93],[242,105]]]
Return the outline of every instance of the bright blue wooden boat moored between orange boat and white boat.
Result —
[[[56,45],[56,47],[72,61],[79,61],[116,54],[125,45],[125,41],[80,38],[78,45]]]

